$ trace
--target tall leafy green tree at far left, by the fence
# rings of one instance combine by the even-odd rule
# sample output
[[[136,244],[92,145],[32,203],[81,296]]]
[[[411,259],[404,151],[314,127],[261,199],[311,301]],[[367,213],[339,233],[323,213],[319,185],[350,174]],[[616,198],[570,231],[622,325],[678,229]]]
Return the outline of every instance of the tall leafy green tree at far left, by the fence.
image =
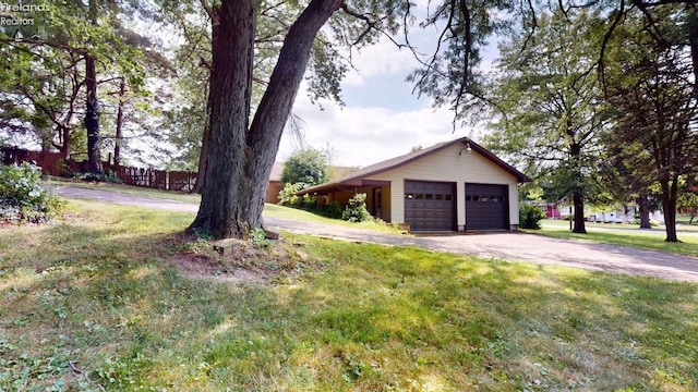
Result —
[[[7,76],[19,76],[0,77],[0,118],[14,130],[37,133],[45,148],[60,149],[64,159],[75,147],[76,132],[86,130],[91,170],[99,172],[98,100],[105,83],[99,75],[109,68],[131,86],[143,83],[141,44],[147,40],[137,39],[123,23],[136,2],[39,3],[50,5],[40,20],[35,16],[34,32],[21,37],[0,32],[0,50],[5,54],[0,66]]]

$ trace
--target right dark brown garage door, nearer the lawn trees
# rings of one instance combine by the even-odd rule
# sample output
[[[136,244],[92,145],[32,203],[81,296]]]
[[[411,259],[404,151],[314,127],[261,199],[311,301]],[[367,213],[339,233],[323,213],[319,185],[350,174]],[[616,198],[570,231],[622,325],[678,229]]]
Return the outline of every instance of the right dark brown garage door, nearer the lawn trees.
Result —
[[[466,230],[508,230],[508,185],[466,183]]]

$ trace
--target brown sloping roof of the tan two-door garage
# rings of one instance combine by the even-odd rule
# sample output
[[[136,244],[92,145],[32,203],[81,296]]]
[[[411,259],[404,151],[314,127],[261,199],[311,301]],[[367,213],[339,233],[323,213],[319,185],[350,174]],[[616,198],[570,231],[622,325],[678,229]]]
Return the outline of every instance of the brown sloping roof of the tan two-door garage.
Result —
[[[516,177],[516,180],[518,182],[530,182],[531,179],[529,179],[526,174],[521,173],[520,171],[516,170],[513,166],[506,163],[505,161],[503,161],[502,159],[497,158],[494,154],[492,154],[491,151],[489,151],[488,149],[485,149],[484,147],[480,146],[479,144],[472,142],[470,138],[468,137],[461,137],[461,138],[457,138],[455,140],[450,140],[450,142],[445,142],[445,143],[441,143],[431,147],[426,147],[426,148],[422,148],[421,150],[418,151],[413,151],[410,154],[406,154],[404,156],[399,156],[399,157],[395,157],[392,159],[387,159],[384,160],[382,162],[375,163],[375,164],[371,164],[365,168],[359,169],[350,174],[345,175],[344,177],[337,180],[337,181],[332,181],[332,182],[327,182],[324,184],[320,184],[320,185],[315,185],[315,186],[311,186],[306,189],[300,191],[298,193],[298,195],[306,195],[306,194],[315,194],[315,193],[329,193],[329,192],[335,192],[335,191],[346,191],[346,189],[353,189],[357,186],[366,186],[366,185],[389,185],[389,184],[383,184],[380,181],[371,181],[371,180],[364,180],[369,176],[373,176],[383,172],[386,172],[388,170],[393,170],[393,169],[397,169],[399,167],[402,167],[405,164],[408,164],[410,162],[413,162],[420,158],[423,158],[428,155],[441,151],[444,148],[450,147],[453,145],[457,145],[457,144],[462,144],[464,147],[466,145],[470,145],[470,148],[480,154],[481,156],[483,156],[484,158],[489,159],[490,161],[492,161],[494,164],[498,166],[500,168],[504,169],[505,171],[509,172],[512,175],[514,175]]]

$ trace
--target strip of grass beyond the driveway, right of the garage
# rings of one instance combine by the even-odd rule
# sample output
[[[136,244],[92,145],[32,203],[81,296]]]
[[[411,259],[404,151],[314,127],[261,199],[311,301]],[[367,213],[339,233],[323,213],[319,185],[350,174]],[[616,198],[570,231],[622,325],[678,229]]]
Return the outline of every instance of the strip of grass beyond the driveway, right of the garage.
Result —
[[[698,256],[698,232],[693,226],[678,225],[679,243],[666,243],[663,229],[639,230],[630,224],[587,223],[587,234],[569,231],[568,221],[544,220],[541,230],[521,230],[556,238],[593,241],[603,244],[631,246],[642,249]]]

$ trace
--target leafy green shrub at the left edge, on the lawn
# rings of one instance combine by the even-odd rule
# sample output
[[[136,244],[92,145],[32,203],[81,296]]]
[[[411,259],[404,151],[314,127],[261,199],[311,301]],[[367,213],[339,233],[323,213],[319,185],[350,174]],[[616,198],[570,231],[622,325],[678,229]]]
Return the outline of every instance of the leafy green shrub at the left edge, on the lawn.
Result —
[[[41,188],[41,169],[29,163],[0,166],[0,221],[47,221],[59,200]]]

